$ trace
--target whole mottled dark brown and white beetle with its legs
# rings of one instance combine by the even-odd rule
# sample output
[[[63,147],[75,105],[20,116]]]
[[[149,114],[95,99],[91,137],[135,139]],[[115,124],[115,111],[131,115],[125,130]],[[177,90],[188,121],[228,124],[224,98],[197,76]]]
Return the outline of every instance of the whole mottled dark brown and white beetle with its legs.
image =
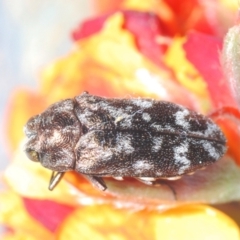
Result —
[[[61,176],[75,170],[101,190],[106,189],[104,176],[151,183],[192,173],[226,151],[219,127],[187,108],[88,93],[55,103],[31,118],[25,134],[31,160]],[[56,179],[53,176],[50,188]]]

